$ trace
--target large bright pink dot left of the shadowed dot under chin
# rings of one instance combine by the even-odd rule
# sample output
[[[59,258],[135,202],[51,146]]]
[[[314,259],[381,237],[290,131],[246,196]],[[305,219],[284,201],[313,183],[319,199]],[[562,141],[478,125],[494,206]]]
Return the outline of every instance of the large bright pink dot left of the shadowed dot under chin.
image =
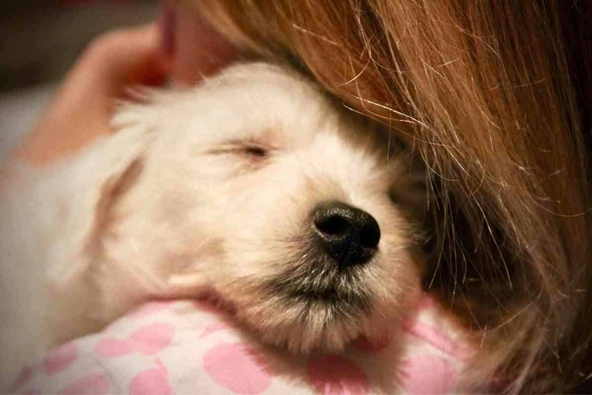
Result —
[[[216,383],[237,394],[260,394],[271,384],[259,355],[242,343],[217,345],[204,355],[203,362]]]

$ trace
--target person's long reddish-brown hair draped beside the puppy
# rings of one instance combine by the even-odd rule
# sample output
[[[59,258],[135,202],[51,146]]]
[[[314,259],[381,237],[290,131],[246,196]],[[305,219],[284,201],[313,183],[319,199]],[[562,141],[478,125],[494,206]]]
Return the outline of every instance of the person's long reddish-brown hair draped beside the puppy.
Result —
[[[479,376],[508,391],[590,377],[592,7],[193,2],[242,49],[300,65],[421,153],[439,246],[426,284],[469,306],[490,345]]]

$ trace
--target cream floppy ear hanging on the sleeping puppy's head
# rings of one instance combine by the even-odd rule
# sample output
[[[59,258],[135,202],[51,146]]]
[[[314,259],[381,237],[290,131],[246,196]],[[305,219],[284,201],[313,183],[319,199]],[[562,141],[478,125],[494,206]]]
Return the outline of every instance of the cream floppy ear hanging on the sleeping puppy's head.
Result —
[[[95,174],[86,172],[88,182],[78,184],[81,191],[69,198],[69,219],[63,225],[66,237],[57,242],[48,268],[51,303],[57,306],[51,319],[56,325],[67,325],[72,336],[95,332],[114,317],[112,311],[120,313],[112,306],[105,307],[104,240],[117,221],[118,203],[137,184],[144,160],[130,153],[110,164],[107,168],[96,166]],[[121,304],[121,299],[117,303]]]

